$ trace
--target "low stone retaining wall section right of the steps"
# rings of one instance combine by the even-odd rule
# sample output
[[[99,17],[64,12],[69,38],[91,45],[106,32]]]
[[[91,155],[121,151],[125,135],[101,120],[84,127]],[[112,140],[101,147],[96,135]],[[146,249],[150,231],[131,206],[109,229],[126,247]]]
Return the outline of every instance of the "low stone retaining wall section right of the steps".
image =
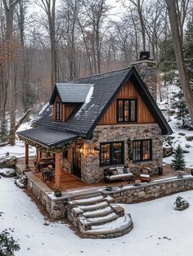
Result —
[[[193,189],[193,177],[173,178],[159,182],[150,182],[141,186],[128,186],[107,192],[114,197],[115,203],[132,204],[146,200],[154,200],[166,195]]]

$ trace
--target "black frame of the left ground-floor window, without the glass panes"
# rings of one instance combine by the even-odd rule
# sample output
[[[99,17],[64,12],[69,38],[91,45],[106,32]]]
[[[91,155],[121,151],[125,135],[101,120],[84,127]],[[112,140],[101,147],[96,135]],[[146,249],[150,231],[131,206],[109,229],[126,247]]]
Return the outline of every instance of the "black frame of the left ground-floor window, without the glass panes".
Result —
[[[120,163],[113,163],[113,158],[114,158],[114,144],[115,143],[121,143],[121,161]],[[103,145],[110,145],[110,164],[101,164],[101,146]],[[100,166],[110,166],[110,165],[117,165],[117,164],[124,164],[124,141],[110,141],[110,142],[101,142],[100,143]]]

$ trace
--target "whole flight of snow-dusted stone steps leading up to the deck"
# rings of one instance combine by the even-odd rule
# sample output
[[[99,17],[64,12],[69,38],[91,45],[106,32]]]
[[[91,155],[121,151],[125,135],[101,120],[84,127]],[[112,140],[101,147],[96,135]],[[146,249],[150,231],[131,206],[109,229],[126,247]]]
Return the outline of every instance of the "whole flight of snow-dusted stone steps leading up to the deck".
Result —
[[[113,238],[132,229],[132,219],[124,215],[112,197],[100,194],[77,196],[69,201],[68,218],[79,229],[81,236]]]

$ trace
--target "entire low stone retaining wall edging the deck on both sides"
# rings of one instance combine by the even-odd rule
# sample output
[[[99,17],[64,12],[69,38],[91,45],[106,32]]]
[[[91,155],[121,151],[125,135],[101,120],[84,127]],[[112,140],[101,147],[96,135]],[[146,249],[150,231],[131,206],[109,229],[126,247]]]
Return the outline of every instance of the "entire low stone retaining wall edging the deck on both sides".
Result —
[[[27,172],[25,174],[28,177],[29,189],[37,196],[53,220],[67,218],[68,201],[73,196],[83,195],[85,193],[85,191],[72,192],[69,195],[66,194],[60,198],[56,198],[53,196],[53,191],[41,182],[38,177],[35,177],[33,173]],[[124,186],[123,189],[114,187],[113,191],[96,188],[96,193],[100,191],[105,195],[114,197],[115,203],[132,204],[189,190],[193,190],[192,176],[160,180],[142,184],[141,186]],[[92,194],[94,196],[94,191],[92,191]]]

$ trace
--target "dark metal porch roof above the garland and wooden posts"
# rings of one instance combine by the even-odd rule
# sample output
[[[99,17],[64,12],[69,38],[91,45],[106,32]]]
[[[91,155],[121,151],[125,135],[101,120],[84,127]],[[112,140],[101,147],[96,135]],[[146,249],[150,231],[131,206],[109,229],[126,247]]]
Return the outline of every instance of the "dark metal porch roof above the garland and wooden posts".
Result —
[[[70,132],[63,132],[43,126],[38,126],[36,128],[17,132],[17,135],[29,141],[34,141],[47,148],[60,146],[62,144],[65,144],[66,142],[74,141],[79,137],[78,135]]]

